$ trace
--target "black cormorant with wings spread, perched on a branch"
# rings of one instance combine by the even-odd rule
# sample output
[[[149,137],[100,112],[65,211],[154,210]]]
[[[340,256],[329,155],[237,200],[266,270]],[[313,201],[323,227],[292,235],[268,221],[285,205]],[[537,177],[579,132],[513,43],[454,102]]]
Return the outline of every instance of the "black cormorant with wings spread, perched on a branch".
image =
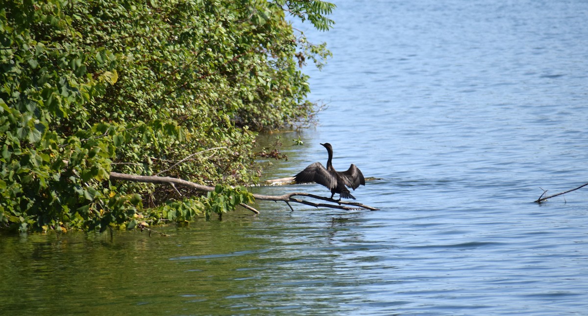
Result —
[[[366,182],[365,179],[363,179],[362,172],[359,171],[355,164],[351,164],[349,169],[345,172],[336,171],[332,164],[333,147],[329,143],[324,143],[322,145],[325,146],[329,153],[327,167],[325,168],[319,162],[315,162],[310,164],[310,166],[306,167],[306,169],[302,170],[299,174],[296,174],[294,180],[296,183],[316,182],[328,187],[332,193],[330,197],[331,199],[333,199],[335,193],[339,193],[339,200],[342,197],[355,200],[355,197],[351,195],[345,186],[348,186],[353,190],[359,187],[359,184],[365,186]]]

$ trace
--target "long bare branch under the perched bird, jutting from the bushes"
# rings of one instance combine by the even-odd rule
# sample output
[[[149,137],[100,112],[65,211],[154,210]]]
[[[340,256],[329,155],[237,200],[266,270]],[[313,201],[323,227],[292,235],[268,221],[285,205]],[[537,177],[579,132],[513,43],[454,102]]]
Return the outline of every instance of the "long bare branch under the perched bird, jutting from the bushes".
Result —
[[[186,180],[182,180],[182,179],[178,179],[178,178],[173,178],[173,177],[138,176],[136,174],[126,174],[126,173],[111,172],[110,173],[110,179],[111,180],[126,180],[126,181],[148,182],[148,183],[165,183],[165,184],[170,184],[171,186],[179,185],[179,186],[191,187],[192,189],[196,189],[198,191],[206,191],[206,192],[208,192],[208,191],[214,191],[215,190],[214,187],[203,186],[202,184],[193,183],[191,181],[186,181]],[[312,199],[329,201],[331,203],[336,203],[336,204],[313,203],[313,202],[309,202],[309,201],[306,201],[306,200],[296,199],[295,196],[310,197]],[[302,193],[302,192],[286,193],[286,194],[283,194],[281,196],[266,196],[266,195],[262,195],[262,194],[253,194],[253,197],[255,197],[256,200],[276,201],[276,202],[277,201],[283,201],[286,204],[288,204],[288,206],[290,207],[290,210],[292,210],[292,211],[294,209],[292,209],[292,206],[290,206],[290,202],[295,202],[295,203],[300,203],[300,204],[306,204],[306,205],[314,206],[314,207],[330,207],[331,209],[342,209],[342,210],[358,210],[358,209],[377,210],[375,207],[367,206],[367,205],[364,205],[364,204],[361,204],[361,203],[334,200],[334,199],[329,199],[328,197],[316,196],[314,194],[308,194],[308,193]],[[254,209],[253,207],[251,207],[251,206],[249,206],[247,204],[242,204],[241,206],[245,207],[245,209],[248,209],[248,210],[252,211],[253,213],[259,214],[259,211],[258,210]]]

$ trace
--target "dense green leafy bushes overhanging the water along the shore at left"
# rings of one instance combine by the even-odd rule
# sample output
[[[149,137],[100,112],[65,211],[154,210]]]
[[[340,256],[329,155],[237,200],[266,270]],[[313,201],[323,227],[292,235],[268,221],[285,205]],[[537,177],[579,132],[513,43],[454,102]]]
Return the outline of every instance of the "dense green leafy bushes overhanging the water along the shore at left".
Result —
[[[258,132],[312,122],[318,0],[7,0],[0,9],[0,230],[143,228],[253,201]],[[204,186],[111,181],[111,173]]]

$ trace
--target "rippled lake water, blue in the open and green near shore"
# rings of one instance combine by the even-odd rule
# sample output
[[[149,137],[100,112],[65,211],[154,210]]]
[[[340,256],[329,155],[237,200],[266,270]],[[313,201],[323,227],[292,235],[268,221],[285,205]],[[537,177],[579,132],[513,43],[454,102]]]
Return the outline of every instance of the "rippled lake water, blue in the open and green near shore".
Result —
[[[265,177],[355,163],[377,211],[260,202],[146,232],[2,237],[0,314],[586,315],[588,2],[338,1],[320,125]],[[268,136],[271,140],[274,136]],[[262,187],[305,191],[318,185]]]

